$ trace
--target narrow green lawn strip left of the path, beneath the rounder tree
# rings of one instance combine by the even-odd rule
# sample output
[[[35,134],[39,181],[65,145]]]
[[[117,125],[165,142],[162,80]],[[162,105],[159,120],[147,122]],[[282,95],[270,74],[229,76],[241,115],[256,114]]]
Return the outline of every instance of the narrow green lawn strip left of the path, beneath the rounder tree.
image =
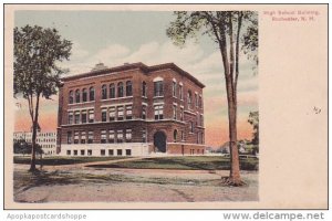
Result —
[[[94,161],[106,161],[106,160],[116,160],[123,159],[127,157],[46,157],[40,160],[39,158],[35,159],[35,164],[40,165],[73,165],[73,164],[82,164],[82,162],[94,162]],[[18,157],[13,158],[14,164],[30,164],[30,157]]]

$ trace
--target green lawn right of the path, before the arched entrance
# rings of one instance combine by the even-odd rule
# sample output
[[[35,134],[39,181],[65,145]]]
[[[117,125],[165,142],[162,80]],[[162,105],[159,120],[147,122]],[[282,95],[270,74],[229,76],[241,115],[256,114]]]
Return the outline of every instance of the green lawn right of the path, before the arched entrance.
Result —
[[[195,157],[163,157],[144,158],[131,161],[94,165],[96,168],[132,168],[132,169],[188,169],[188,170],[229,170],[229,158],[219,156]],[[240,160],[242,170],[258,170],[258,159],[246,158]]]

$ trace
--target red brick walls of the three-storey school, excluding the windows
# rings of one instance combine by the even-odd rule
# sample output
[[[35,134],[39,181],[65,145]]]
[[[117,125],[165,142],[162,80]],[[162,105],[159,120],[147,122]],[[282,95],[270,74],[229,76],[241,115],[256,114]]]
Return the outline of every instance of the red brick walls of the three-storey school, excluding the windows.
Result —
[[[187,92],[188,90],[191,91],[193,94],[193,109],[191,112],[195,115],[185,113],[184,114],[184,122],[175,122],[175,120],[162,120],[162,122],[154,122],[154,78],[155,77],[163,77],[164,78],[164,98],[160,102],[164,102],[164,119],[173,119],[173,103],[177,104],[177,117],[179,119],[180,116],[180,106],[184,106],[184,109],[187,110]],[[177,82],[177,96],[173,97],[173,78]],[[110,97],[110,83],[114,83],[117,85],[118,82],[124,83],[124,94],[125,94],[125,82],[132,81],[133,83],[133,97],[123,97],[121,99],[108,99],[102,101],[102,85],[106,84],[107,86],[107,97]],[[147,84],[147,98],[142,97],[142,82],[145,81]],[[183,92],[184,92],[184,101],[179,99],[178,95],[178,84],[179,82],[183,83]],[[83,88],[87,90],[91,86],[95,88],[95,101],[91,103],[82,103],[82,92]],[[69,105],[69,92],[72,90],[75,92],[76,90],[81,91],[81,103],[80,104],[71,104]],[[117,73],[112,74],[103,74],[95,77],[82,77],[72,81],[65,81],[64,85],[60,90],[60,98],[59,98],[59,135],[61,135],[61,143],[66,143],[66,131],[71,130],[74,136],[74,130],[94,130],[94,143],[100,143],[101,130],[102,129],[122,129],[122,128],[131,128],[133,130],[132,140],[133,141],[142,141],[142,128],[147,128],[147,141],[154,141],[154,134],[157,130],[163,130],[167,136],[167,143],[174,141],[181,141],[180,140],[180,131],[184,131],[185,135],[185,143],[188,144],[196,144],[197,143],[197,133],[204,133],[204,127],[196,127],[197,117],[196,114],[203,114],[204,109],[196,107],[195,105],[195,92],[197,94],[203,95],[203,90],[191,80],[187,78],[186,76],[175,72],[170,69],[165,69],[160,71],[154,71],[149,73],[144,73],[139,69],[121,71]],[[117,93],[117,90],[116,90]],[[75,96],[74,96],[75,97]],[[87,96],[89,97],[89,96]],[[147,103],[147,122],[141,120],[142,116],[142,103]],[[101,105],[113,105],[120,103],[133,103],[133,119],[139,120],[131,120],[131,122],[117,122],[117,123],[102,123],[101,122]],[[70,126],[62,126],[68,124],[68,109],[75,109],[75,108],[94,108],[94,124],[81,124],[81,125],[70,125]],[[125,112],[125,110],[124,110]],[[108,117],[108,115],[107,115]],[[195,124],[194,134],[189,131],[189,122],[193,120]],[[177,140],[174,140],[174,130],[177,130]],[[108,136],[107,136],[108,137]],[[197,147],[199,148],[199,147]],[[170,150],[173,147],[170,146]],[[175,148],[177,149],[177,148]],[[187,147],[185,148],[187,152]],[[178,151],[178,150],[172,150]],[[190,154],[190,152],[188,152]]]

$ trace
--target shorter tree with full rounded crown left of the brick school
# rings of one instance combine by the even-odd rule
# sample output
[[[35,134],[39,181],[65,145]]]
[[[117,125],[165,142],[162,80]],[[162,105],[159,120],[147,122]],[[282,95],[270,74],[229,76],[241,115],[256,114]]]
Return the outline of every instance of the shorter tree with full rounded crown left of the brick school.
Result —
[[[28,101],[32,122],[32,152],[30,171],[35,170],[37,126],[40,98],[56,94],[61,74],[66,70],[58,64],[69,60],[72,43],[62,39],[55,29],[25,25],[14,28],[14,96]]]

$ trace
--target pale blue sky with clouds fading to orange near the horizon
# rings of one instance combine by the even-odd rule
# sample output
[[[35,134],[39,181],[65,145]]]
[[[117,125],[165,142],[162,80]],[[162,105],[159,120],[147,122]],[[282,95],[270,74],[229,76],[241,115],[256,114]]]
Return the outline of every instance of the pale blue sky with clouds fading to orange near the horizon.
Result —
[[[70,74],[89,72],[94,64],[117,66],[125,62],[147,65],[174,62],[201,81],[206,88],[206,141],[211,146],[222,143],[212,138],[227,134],[227,103],[220,52],[207,36],[190,41],[184,49],[175,46],[166,35],[166,28],[174,20],[173,12],[139,11],[17,11],[14,25],[55,28],[73,42],[71,61],[61,64]],[[249,112],[258,109],[258,75],[252,63],[240,56],[239,130],[247,131]],[[24,103],[23,103],[24,104]],[[58,102],[45,102],[44,114],[56,115]],[[23,114],[24,107],[22,108]],[[51,124],[52,125],[52,124]],[[55,129],[55,126],[54,126]],[[250,131],[251,133],[251,131]],[[246,137],[245,136],[245,137]],[[227,137],[227,136],[226,136]],[[216,140],[215,140],[216,139]]]

